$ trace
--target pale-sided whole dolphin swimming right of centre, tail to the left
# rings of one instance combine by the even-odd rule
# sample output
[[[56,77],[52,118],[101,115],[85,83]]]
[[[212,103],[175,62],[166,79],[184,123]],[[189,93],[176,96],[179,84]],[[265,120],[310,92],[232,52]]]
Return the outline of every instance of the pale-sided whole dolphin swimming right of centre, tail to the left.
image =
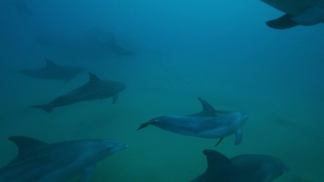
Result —
[[[236,134],[235,145],[242,141],[242,127],[248,116],[242,111],[216,111],[208,102],[199,98],[203,111],[187,116],[160,116],[143,123],[137,130],[153,125],[178,134],[201,138],[220,138],[217,146],[225,136]]]

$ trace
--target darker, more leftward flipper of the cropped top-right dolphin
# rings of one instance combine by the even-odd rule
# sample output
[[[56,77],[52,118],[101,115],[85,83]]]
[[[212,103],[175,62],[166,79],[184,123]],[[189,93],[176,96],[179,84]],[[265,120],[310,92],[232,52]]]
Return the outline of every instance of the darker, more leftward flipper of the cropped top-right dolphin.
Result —
[[[266,24],[274,29],[287,29],[299,25],[291,19],[292,17],[293,15],[286,14],[280,18],[267,21]]]

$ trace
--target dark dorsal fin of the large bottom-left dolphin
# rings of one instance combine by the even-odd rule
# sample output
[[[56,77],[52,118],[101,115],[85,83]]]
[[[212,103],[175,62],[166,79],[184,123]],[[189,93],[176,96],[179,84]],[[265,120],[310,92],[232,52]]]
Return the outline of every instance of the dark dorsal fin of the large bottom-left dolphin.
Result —
[[[19,153],[35,147],[47,145],[45,142],[29,138],[27,136],[10,136],[9,140],[17,145]]]

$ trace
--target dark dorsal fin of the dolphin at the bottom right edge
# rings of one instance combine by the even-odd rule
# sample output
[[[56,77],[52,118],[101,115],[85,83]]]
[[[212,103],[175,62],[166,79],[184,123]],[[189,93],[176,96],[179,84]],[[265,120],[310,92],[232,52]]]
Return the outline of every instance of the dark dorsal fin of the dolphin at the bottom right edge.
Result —
[[[203,153],[207,156],[207,170],[227,168],[232,163],[226,156],[215,150],[204,150]]]

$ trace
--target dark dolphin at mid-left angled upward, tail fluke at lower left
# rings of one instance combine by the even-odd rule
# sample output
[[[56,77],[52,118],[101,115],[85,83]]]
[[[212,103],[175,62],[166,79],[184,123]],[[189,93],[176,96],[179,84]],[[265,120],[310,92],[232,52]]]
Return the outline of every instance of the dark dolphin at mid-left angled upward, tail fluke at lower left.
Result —
[[[126,88],[126,85],[122,82],[101,80],[95,74],[90,72],[89,76],[90,80],[88,83],[54,99],[49,104],[30,107],[43,109],[47,113],[50,113],[55,107],[66,106],[81,101],[102,100],[109,97],[112,97],[112,104],[115,104],[118,99],[118,93]]]

